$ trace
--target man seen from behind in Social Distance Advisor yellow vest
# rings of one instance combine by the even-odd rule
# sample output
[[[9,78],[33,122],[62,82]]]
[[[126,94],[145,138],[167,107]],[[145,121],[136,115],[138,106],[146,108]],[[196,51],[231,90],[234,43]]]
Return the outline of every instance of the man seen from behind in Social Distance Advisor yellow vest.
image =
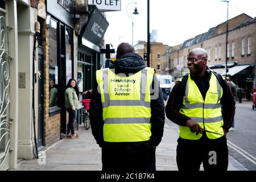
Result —
[[[96,72],[90,101],[102,171],[155,171],[165,119],[162,90],[154,69],[146,67],[131,44],[119,44],[116,57],[109,68]]]

